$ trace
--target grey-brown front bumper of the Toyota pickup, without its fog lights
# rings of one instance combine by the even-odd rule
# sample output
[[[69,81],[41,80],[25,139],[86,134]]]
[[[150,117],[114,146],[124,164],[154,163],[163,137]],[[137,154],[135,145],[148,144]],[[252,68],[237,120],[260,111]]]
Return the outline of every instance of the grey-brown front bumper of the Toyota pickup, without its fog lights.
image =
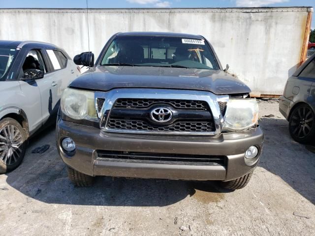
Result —
[[[257,166],[263,144],[263,133],[259,126],[216,136],[183,137],[107,133],[95,127],[64,121],[59,117],[56,129],[57,149],[65,164],[90,176],[227,181],[242,177]],[[61,142],[64,137],[74,140],[75,153],[67,154],[63,151]],[[259,147],[259,154],[253,165],[248,166],[244,153],[250,146]],[[108,161],[97,158],[96,150],[223,155],[227,161],[225,165]]]

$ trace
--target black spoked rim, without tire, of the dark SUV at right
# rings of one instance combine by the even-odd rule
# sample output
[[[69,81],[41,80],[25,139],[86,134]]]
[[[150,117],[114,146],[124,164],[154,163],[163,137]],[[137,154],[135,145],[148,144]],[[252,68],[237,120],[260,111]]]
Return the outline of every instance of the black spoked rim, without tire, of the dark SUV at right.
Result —
[[[294,110],[290,122],[291,133],[298,139],[307,137],[314,125],[314,115],[309,107]]]

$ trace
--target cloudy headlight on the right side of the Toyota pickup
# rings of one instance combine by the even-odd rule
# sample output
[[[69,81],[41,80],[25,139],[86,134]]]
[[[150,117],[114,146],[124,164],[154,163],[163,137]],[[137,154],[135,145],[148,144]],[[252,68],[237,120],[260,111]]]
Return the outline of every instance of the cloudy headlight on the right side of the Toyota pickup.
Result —
[[[224,131],[244,130],[258,122],[258,104],[252,98],[230,98],[223,125]]]

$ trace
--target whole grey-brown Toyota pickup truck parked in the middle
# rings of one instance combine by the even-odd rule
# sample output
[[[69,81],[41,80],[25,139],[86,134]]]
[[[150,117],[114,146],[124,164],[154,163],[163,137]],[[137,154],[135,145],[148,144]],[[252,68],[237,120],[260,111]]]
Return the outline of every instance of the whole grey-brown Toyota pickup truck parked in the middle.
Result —
[[[70,180],[94,176],[221,180],[246,186],[263,144],[251,90],[223,70],[202,36],[112,36],[63,92],[57,147]]]

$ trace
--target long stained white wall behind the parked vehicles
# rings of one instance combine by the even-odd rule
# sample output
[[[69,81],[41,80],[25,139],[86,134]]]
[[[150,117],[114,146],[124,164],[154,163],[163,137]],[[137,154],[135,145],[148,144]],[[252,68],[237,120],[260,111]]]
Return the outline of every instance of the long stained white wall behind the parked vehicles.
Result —
[[[297,68],[313,8],[90,9],[90,50],[98,56],[119,31],[205,36],[222,66],[261,94],[282,94]],[[54,43],[73,57],[88,51],[85,9],[0,9],[0,39]]]

